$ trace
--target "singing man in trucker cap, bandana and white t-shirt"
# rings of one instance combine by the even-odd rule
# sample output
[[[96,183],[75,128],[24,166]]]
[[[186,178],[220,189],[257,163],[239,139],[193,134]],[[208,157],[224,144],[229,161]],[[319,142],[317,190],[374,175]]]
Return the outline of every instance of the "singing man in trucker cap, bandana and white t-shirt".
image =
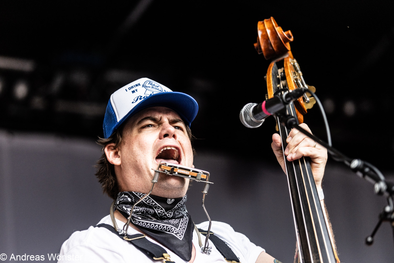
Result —
[[[133,204],[151,190],[152,169],[157,169],[160,161],[194,167],[189,127],[197,111],[192,97],[148,78],[140,78],[111,95],[104,116],[104,138],[98,141],[103,155],[96,175],[104,192],[116,200],[114,221],[119,230],[126,224]],[[307,125],[303,127],[309,130]],[[284,169],[281,138],[274,134],[272,139],[272,149]],[[296,130],[290,132],[287,142],[284,153],[288,160],[310,157],[316,187],[321,191],[325,148]],[[74,232],[63,243],[60,254],[78,255],[84,262],[95,263],[279,262],[222,222],[212,222],[210,252],[204,253],[200,246],[206,232],[197,229],[206,231],[208,222],[196,227],[188,214],[188,185],[189,179],[160,173],[151,195],[134,207],[126,238],[125,233],[116,231],[108,215],[97,226]],[[164,256],[154,256],[159,250],[165,251]]]

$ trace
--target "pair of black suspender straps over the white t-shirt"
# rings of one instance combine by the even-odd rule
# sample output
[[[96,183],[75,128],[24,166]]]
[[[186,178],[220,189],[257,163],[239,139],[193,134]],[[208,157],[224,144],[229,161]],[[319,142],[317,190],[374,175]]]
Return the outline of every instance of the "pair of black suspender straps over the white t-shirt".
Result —
[[[108,224],[98,224],[95,228],[106,228],[110,230],[112,233],[124,239],[134,246],[136,246],[143,254],[151,257],[155,260],[164,259],[164,263],[174,262],[171,261],[170,256],[167,254],[167,251],[159,246],[158,244],[152,243],[148,239],[145,238],[143,234],[135,234],[135,235],[120,235],[113,226]],[[201,234],[206,236],[206,231],[203,229],[198,229]],[[231,263],[240,263],[237,256],[235,256],[234,252],[232,252],[231,248],[219,237],[215,236],[214,233],[210,232],[209,240],[214,243],[217,250],[224,257],[227,262]]]

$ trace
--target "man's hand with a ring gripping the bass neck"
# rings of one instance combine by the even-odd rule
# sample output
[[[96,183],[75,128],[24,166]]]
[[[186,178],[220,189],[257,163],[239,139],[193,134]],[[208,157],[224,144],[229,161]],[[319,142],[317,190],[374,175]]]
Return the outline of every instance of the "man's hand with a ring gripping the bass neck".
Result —
[[[312,133],[305,123],[301,123],[300,126]],[[314,140],[310,139],[302,132],[299,132],[296,128],[290,131],[286,142],[288,145],[284,150],[284,155],[286,155],[287,160],[294,161],[303,156],[310,157],[310,165],[312,166],[316,187],[318,190],[321,189],[324,167],[327,162],[327,149],[320,144],[316,144],[316,146],[313,147],[315,145]],[[283,171],[286,172],[282,153],[281,136],[279,134],[275,133],[272,135],[271,147]]]

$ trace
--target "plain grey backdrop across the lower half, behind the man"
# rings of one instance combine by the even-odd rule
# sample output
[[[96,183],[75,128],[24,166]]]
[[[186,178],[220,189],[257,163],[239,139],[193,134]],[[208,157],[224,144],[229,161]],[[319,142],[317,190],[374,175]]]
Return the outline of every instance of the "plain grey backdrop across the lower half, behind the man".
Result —
[[[209,171],[215,183],[206,199],[212,220],[229,223],[272,256],[292,262],[294,223],[279,165],[219,151],[197,153],[195,167]],[[99,156],[93,141],[0,131],[0,254],[47,258],[59,252],[73,231],[108,215],[111,200],[94,176]],[[189,190],[187,207],[196,223],[206,220],[202,187],[195,182]],[[373,246],[364,244],[385,205],[372,185],[329,160],[323,188],[341,261],[394,262],[388,223],[379,229]]]

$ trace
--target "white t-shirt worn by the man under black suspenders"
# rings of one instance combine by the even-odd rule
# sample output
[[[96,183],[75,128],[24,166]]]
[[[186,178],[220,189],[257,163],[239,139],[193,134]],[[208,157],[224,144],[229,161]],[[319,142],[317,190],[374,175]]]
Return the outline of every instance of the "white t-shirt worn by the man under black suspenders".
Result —
[[[123,227],[124,223],[116,219],[116,222],[120,228]],[[108,215],[102,218],[99,222],[113,226],[111,217]],[[208,222],[203,222],[197,225],[197,228],[208,229]],[[260,246],[256,246],[249,239],[238,232],[235,232],[229,224],[222,222],[212,221],[211,231],[215,235],[226,242],[227,245],[232,249],[234,254],[239,257],[241,263],[255,263],[257,257],[261,252],[265,252]],[[139,232],[133,228],[128,228],[128,234],[134,235]],[[200,234],[201,241],[205,242],[205,236]],[[147,237],[147,239],[153,243],[158,244],[156,241]],[[212,252],[210,255],[201,252],[201,248],[198,243],[198,236],[193,231],[193,245],[196,250],[196,256],[194,259],[195,263],[214,263],[214,262],[226,262],[224,257],[216,249],[212,241],[209,242],[212,246]],[[162,246],[161,244],[159,244]],[[171,256],[171,260],[175,263],[185,262],[180,259],[170,249],[162,246],[167,253]],[[58,262],[130,262],[130,263],[158,263],[161,260],[154,260],[143,254],[133,244],[120,239],[117,235],[110,232],[105,228],[89,227],[84,231],[76,231],[72,233],[71,237],[67,239],[61,246],[60,254],[57,258]]]

